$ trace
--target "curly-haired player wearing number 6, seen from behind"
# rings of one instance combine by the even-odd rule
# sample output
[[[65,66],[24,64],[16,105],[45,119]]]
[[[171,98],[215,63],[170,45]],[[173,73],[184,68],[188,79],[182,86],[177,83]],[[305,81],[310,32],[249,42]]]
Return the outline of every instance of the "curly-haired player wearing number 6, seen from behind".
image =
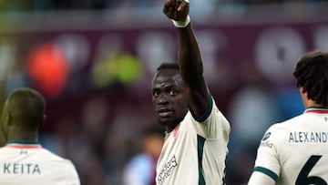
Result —
[[[266,131],[248,185],[327,185],[328,53],[306,54],[293,76],[306,109]]]

